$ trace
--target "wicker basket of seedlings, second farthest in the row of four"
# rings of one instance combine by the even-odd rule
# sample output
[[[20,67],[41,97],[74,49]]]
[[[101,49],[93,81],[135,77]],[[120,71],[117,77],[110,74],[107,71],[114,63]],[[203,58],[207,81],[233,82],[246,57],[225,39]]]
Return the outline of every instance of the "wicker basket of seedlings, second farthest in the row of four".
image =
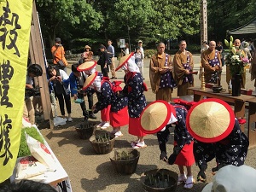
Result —
[[[109,139],[104,141],[104,137],[107,135]],[[98,137],[102,137],[102,140],[98,139]],[[113,149],[115,138],[109,132],[102,131],[91,136],[89,141],[96,154],[108,154]]]

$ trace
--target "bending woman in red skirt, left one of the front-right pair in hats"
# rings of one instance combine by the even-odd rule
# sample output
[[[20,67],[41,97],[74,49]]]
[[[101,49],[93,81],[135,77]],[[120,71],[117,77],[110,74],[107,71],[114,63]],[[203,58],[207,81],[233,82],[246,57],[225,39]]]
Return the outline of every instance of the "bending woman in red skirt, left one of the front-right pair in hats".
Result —
[[[184,189],[191,189],[195,182],[191,166],[195,163],[193,155],[193,137],[186,129],[187,109],[181,105],[168,103],[163,100],[151,102],[143,110],[140,117],[142,131],[148,134],[157,132],[160,146],[160,160],[166,160],[170,165],[177,164],[179,176],[177,184],[184,183]],[[174,128],[173,153],[167,159],[166,142],[170,134],[169,127]],[[187,168],[187,174],[184,171]]]

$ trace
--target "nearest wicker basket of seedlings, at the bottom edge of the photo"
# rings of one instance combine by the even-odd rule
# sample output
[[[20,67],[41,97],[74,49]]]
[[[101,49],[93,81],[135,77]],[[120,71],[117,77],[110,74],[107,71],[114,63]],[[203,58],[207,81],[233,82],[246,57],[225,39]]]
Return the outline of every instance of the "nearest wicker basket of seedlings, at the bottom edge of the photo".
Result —
[[[141,177],[143,189],[148,192],[172,192],[177,187],[177,172],[154,169],[144,172]]]

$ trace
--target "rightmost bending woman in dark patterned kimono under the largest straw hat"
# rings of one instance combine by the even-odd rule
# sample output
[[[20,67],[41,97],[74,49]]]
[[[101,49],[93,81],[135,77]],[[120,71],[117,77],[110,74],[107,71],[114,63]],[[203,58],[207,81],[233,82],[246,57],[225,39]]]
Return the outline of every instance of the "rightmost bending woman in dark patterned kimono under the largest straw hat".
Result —
[[[201,100],[190,108],[186,124],[195,140],[195,163],[200,168],[197,180],[207,181],[207,162],[214,158],[217,166],[212,168],[213,174],[227,165],[244,164],[249,141],[228,103],[219,99]]]

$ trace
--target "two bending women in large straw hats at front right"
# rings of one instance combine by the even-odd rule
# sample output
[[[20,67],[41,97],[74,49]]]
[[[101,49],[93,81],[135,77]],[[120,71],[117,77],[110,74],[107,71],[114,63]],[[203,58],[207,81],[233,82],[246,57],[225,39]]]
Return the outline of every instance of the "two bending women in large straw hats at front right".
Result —
[[[167,158],[166,142],[169,128],[174,127],[173,153]],[[218,99],[204,99],[194,103],[189,111],[183,105],[156,101],[150,103],[141,114],[143,132],[157,133],[160,142],[160,160],[179,168],[178,184],[191,189],[191,166],[199,167],[197,180],[207,181],[207,162],[215,158],[215,174],[224,166],[241,166],[247,157],[248,139],[241,131],[239,120],[230,105]],[[170,126],[171,125],[171,126]],[[183,166],[187,167],[187,173]]]

